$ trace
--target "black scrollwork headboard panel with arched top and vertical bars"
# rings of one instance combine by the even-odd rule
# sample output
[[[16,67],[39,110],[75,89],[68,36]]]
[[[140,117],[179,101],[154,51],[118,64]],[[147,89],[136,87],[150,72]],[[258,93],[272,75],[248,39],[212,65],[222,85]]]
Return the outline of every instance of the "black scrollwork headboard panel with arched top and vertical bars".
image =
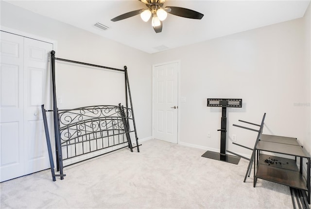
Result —
[[[66,152],[64,156],[67,156],[64,159],[81,155],[78,154],[79,150],[85,154],[125,143],[124,135],[131,131],[125,132],[123,120],[133,121],[130,108],[122,106],[120,109],[120,106],[114,105],[59,110],[58,116],[61,146]],[[84,147],[85,143],[88,144],[88,150]],[[102,145],[97,146],[97,143]]]

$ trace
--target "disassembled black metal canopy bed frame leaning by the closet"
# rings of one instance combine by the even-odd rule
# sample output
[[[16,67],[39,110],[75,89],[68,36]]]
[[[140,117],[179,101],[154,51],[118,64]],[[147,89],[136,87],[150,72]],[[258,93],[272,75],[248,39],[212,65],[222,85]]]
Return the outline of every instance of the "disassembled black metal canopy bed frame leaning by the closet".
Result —
[[[55,60],[124,72],[125,106],[121,104],[96,105],[59,110],[56,102]],[[133,148],[137,147],[137,151],[139,152],[126,66],[124,66],[124,70],[121,70],[62,59],[55,57],[55,52],[51,51],[51,70],[53,110],[46,110],[44,104],[41,105],[41,109],[53,181],[56,181],[56,176],[60,176],[61,180],[64,179],[66,174],[64,174],[63,168],[66,166],[111,153],[125,147],[128,147],[131,152],[133,152]],[[54,171],[54,160],[46,116],[46,112],[49,111],[53,112],[56,168],[60,174],[55,174]],[[131,133],[135,134],[136,146],[134,147],[132,146],[130,138]],[[65,160],[69,159],[71,159],[71,163],[64,165]]]

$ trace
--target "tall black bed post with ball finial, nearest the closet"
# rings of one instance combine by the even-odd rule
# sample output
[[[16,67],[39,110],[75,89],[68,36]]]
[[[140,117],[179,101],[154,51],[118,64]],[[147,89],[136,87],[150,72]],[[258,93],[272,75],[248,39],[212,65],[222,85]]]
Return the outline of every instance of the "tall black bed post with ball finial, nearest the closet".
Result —
[[[58,108],[56,104],[56,87],[55,87],[55,51],[51,51],[51,69],[52,69],[52,89],[53,89],[53,116],[54,116],[54,134],[56,144],[56,158],[58,162],[58,168],[60,172],[60,179],[64,179],[63,173],[63,159],[62,159],[62,148],[60,142],[60,130],[59,130],[59,119],[58,119]]]

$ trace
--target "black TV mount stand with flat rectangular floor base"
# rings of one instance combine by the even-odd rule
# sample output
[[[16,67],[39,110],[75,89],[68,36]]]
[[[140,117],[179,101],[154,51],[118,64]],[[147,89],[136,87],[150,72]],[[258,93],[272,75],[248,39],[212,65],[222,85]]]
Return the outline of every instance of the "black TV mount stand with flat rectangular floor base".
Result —
[[[233,164],[238,164],[241,157],[225,154],[226,135],[227,135],[227,107],[242,107],[242,99],[207,99],[207,106],[222,107],[221,131],[220,135],[220,153],[207,151],[202,157],[221,160]]]

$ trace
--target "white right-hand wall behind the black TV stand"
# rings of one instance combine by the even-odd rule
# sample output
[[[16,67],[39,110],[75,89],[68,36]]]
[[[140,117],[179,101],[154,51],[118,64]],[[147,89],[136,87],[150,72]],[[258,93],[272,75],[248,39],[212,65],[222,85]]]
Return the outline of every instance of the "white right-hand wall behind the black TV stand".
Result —
[[[239,119],[260,124],[264,113],[264,134],[310,144],[310,64],[305,65],[304,38],[300,18],[154,54],[153,64],[181,60],[186,103],[179,104],[180,141],[219,150],[221,109],[207,107],[207,98],[242,98],[243,108],[227,108],[228,150],[250,155],[230,138],[236,134],[237,143],[253,147],[257,133],[232,124],[247,126]]]

